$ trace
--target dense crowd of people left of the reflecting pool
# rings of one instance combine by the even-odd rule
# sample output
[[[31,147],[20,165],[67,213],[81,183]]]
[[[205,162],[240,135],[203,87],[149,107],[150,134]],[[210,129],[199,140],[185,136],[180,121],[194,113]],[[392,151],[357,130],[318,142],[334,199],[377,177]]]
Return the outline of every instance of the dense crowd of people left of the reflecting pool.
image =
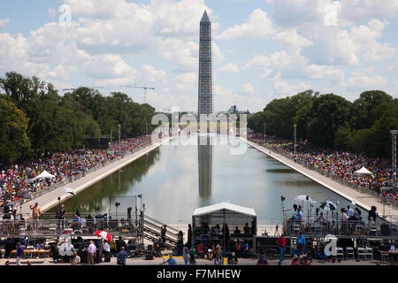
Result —
[[[133,153],[150,144],[150,136],[129,138],[113,142],[109,149],[76,149],[71,152],[43,153],[41,157],[22,164],[9,164],[0,168],[0,206],[20,198],[30,199],[35,192],[88,172],[91,168]],[[35,179],[43,171],[54,178]]]

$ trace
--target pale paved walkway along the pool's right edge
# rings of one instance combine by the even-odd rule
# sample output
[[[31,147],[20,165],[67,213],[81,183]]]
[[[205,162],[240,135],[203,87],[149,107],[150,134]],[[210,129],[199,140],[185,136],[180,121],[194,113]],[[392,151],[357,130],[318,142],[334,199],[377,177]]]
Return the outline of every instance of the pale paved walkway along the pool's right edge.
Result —
[[[377,198],[375,198],[374,196],[367,195],[358,192],[356,189],[353,189],[351,187],[344,186],[341,183],[332,180],[330,178],[327,178],[318,172],[307,169],[300,164],[296,164],[293,160],[289,159],[288,157],[284,157],[283,155],[276,153],[274,151],[270,152],[270,149],[265,149],[263,146],[260,146],[255,142],[249,142],[247,139],[242,137],[240,137],[240,139],[243,142],[247,142],[253,148],[262,151],[269,157],[278,160],[280,163],[286,164],[288,167],[294,169],[296,172],[299,172],[302,175],[310,178],[311,180],[316,181],[319,185],[322,185],[330,189],[334,193],[341,195],[342,197],[348,199],[351,202],[354,200],[356,202],[356,205],[362,207],[364,210],[371,210],[371,206],[373,205],[376,206],[379,215],[383,215],[383,204],[378,203]],[[398,210],[395,210],[394,208],[387,205],[385,207],[385,210],[386,210],[385,213],[386,215],[393,216],[395,219],[398,218]]]

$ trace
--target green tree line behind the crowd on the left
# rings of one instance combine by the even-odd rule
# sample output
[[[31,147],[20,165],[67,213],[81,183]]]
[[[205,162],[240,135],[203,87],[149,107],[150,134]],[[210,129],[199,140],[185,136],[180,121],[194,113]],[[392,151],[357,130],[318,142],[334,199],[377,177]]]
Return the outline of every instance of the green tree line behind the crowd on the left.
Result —
[[[0,78],[0,163],[11,164],[43,152],[82,149],[86,137],[113,139],[150,134],[155,108],[121,92],[103,96],[92,88],[58,90],[37,77],[5,73]],[[148,126],[148,128],[147,128]]]

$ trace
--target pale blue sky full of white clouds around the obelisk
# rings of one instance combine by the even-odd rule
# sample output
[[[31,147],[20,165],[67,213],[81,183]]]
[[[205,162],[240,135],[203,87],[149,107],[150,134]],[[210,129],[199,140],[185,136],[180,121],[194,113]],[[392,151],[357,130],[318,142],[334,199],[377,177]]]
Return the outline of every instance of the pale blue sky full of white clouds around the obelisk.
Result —
[[[102,87],[164,111],[197,110],[199,21],[213,30],[214,108],[261,111],[314,89],[398,97],[398,0],[0,2],[0,75]]]

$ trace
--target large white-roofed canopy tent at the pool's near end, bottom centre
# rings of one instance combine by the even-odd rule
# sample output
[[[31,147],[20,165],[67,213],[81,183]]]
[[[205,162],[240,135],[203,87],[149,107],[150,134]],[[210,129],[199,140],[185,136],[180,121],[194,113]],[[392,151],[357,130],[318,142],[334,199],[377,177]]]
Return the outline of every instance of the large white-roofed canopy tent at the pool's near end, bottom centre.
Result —
[[[233,230],[234,226],[245,226],[246,223],[251,226],[253,221],[256,224],[254,209],[226,202],[197,208],[192,215],[194,229],[202,226],[219,225],[222,227],[226,223],[230,230]]]

